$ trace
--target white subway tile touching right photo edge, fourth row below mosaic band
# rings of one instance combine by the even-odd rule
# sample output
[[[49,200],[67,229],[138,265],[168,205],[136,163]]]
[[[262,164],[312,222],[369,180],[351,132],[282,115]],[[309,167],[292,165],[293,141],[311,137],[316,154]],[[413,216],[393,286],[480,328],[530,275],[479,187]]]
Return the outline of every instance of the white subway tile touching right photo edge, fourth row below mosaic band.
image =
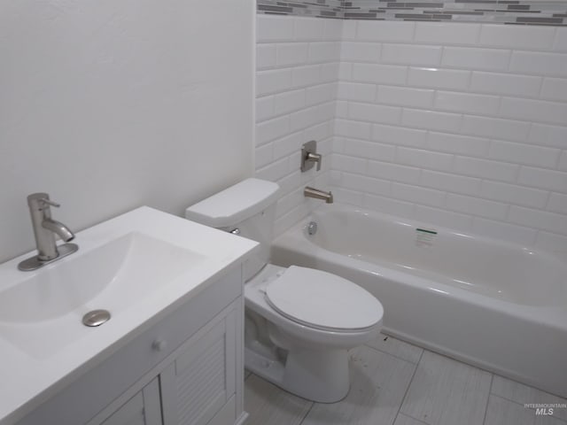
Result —
[[[567,103],[502,97],[500,113],[514,120],[563,125],[567,122]]]

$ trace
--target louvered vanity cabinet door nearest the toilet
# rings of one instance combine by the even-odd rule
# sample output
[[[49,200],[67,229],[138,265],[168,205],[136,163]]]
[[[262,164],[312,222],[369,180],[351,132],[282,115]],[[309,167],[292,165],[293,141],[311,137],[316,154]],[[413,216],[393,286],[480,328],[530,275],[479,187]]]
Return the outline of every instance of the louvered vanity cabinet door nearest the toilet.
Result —
[[[223,411],[236,421],[237,315],[232,308],[191,336],[159,375],[164,425],[205,425]]]

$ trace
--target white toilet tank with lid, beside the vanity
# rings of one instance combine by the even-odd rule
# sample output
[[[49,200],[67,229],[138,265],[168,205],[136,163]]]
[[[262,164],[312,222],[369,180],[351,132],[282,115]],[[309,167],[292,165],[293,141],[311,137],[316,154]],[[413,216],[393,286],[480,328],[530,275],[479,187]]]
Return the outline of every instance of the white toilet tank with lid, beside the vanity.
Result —
[[[269,260],[278,191],[277,183],[246,179],[191,205],[185,217],[227,232],[238,229],[238,235],[260,243],[260,249],[245,262],[244,278],[248,281]]]

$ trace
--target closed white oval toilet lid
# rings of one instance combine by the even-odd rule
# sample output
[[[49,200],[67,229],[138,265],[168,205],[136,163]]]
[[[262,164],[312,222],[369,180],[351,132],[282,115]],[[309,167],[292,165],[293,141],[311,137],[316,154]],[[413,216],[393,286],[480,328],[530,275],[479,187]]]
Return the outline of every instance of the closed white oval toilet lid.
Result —
[[[268,284],[266,301],[292,321],[337,331],[370,328],[384,314],[377,298],[353,282],[297,266]]]

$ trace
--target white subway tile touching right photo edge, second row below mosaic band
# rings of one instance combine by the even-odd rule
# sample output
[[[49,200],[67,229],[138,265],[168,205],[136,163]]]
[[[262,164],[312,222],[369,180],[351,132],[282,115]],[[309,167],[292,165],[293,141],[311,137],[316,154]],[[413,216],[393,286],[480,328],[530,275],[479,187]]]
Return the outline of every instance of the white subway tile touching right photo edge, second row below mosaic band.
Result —
[[[567,77],[567,55],[537,51],[514,51],[510,59],[509,71],[533,73],[548,77]]]

